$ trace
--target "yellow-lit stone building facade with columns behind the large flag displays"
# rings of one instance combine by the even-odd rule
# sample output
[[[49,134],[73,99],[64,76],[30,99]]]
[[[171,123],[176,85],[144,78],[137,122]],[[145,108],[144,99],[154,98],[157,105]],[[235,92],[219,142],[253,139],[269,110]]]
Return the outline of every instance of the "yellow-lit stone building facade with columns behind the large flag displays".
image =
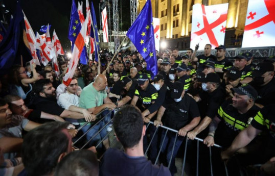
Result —
[[[145,3],[146,0],[138,1],[137,13]],[[153,17],[160,19],[161,41],[167,41],[170,47],[186,49],[190,46],[194,4],[210,6],[228,3],[224,44],[227,47],[241,44],[232,42],[232,37],[243,33],[248,0],[151,0],[151,3]]]

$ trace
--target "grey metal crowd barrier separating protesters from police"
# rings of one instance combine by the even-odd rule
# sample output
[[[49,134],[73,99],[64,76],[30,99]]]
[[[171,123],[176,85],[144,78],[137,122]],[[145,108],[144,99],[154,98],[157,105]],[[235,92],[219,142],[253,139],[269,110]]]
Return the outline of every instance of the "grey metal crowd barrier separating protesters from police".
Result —
[[[117,110],[117,109],[114,109],[114,110]],[[104,118],[107,118],[107,115],[109,115],[110,113],[112,113],[114,110],[110,111],[108,114],[106,114],[104,117],[102,117],[100,120],[98,120],[94,125],[100,123],[102,120],[104,120]],[[104,110],[103,110],[104,111]],[[98,117],[103,111],[101,111],[100,113],[98,113],[96,116]],[[111,123],[112,120],[108,121],[93,137],[91,137],[80,149],[83,149],[91,140],[93,140],[104,128],[107,127],[107,125],[109,123]],[[77,130],[81,130],[85,125],[87,125],[88,122],[85,122],[84,125],[82,125],[81,127],[79,127]],[[79,137],[74,143],[73,143],[73,146],[75,147],[75,144],[80,141],[81,138],[85,137],[85,135],[91,130],[93,129],[94,125],[91,125],[90,129],[88,129],[81,137]],[[152,121],[149,121],[149,123],[147,124],[146,126],[146,130],[148,129],[149,125],[154,125],[154,123]],[[148,154],[148,151],[149,151],[149,148],[152,144],[152,140],[153,138],[155,137],[155,134],[157,133],[157,131],[159,130],[159,128],[162,128],[163,130],[165,130],[165,136],[164,136],[164,139],[167,137],[167,133],[168,131],[170,132],[173,132],[175,133],[175,140],[174,140],[174,144],[173,144],[173,148],[172,148],[172,154],[171,154],[171,158],[169,159],[169,164],[168,164],[168,168],[170,167],[171,165],[171,161],[172,161],[172,156],[173,156],[173,153],[174,153],[174,147],[175,147],[175,143],[176,143],[176,139],[177,139],[177,136],[178,136],[178,131],[177,130],[174,130],[174,129],[171,129],[171,128],[168,128],[168,127],[165,127],[164,125],[159,125],[158,127],[156,127],[156,130],[153,134],[148,144],[148,147],[146,148],[145,150],[145,153],[144,153],[144,156],[147,156]],[[103,137],[103,139],[99,142],[99,144],[96,146],[96,148],[110,135],[112,131],[108,132],[107,135],[105,137]],[[199,166],[199,142],[203,142],[203,139],[200,139],[200,138],[195,138],[195,140],[197,140],[197,158],[196,158],[196,175],[198,175],[198,166]],[[188,144],[188,141],[189,139],[186,137],[186,143],[185,143],[185,151],[184,151],[184,158],[183,158],[183,162],[182,162],[182,171],[181,171],[181,175],[184,175],[184,170],[185,170],[185,166],[186,166],[186,154],[187,154],[187,144]],[[171,141],[170,141],[171,142]],[[110,142],[110,147],[112,147],[115,143],[119,143],[116,138],[114,138],[111,142]],[[161,146],[160,146],[160,149],[159,149],[159,152],[157,154],[157,158],[156,158],[156,161],[154,163],[154,165],[157,164],[157,161],[159,159],[159,156],[161,155],[161,148],[163,147],[164,145],[164,140],[163,142],[161,143]],[[205,146],[207,147],[207,146]],[[218,144],[214,144],[214,147],[218,147],[218,148],[221,148],[220,145]],[[76,147],[77,148],[77,147]],[[122,149],[123,147],[120,147],[120,149]],[[211,170],[211,175],[213,176],[213,166],[212,166],[212,152],[211,152],[211,147],[209,147],[209,154],[210,154],[210,170]],[[224,168],[225,168],[225,172],[226,172],[226,175],[228,176],[228,172],[227,172],[227,167],[225,165],[225,162],[224,162]]]

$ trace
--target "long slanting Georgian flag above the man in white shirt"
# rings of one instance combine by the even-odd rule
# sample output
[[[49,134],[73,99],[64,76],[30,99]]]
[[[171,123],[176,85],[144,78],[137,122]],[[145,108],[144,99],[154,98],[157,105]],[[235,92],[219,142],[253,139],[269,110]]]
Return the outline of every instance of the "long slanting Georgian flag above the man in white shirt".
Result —
[[[87,32],[87,23],[88,23],[88,18],[85,19],[81,27],[81,30],[78,33],[77,38],[75,40],[75,46],[72,52],[72,59],[70,60],[66,74],[63,77],[63,84],[66,86],[68,86],[71,83],[72,78],[74,76],[74,73],[83,49],[83,45],[84,45],[84,37]]]

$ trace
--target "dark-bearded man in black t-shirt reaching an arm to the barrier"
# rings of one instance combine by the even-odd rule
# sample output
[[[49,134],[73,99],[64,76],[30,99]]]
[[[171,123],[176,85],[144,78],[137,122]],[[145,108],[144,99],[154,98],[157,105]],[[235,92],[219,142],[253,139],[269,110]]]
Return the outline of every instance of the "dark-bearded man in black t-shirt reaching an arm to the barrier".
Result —
[[[31,105],[32,109],[38,109],[60,117],[73,119],[85,118],[86,121],[94,121],[96,119],[93,114],[88,114],[84,117],[84,115],[79,112],[66,110],[58,106],[56,102],[55,88],[48,79],[37,81],[34,84],[34,91],[37,93],[37,96],[34,98],[33,104]]]

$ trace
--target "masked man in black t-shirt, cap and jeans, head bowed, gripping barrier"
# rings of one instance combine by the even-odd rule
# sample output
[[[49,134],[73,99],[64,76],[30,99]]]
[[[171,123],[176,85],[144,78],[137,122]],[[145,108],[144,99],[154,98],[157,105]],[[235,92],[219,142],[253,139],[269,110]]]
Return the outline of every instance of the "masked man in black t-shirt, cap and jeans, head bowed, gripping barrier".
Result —
[[[199,123],[200,115],[195,100],[188,94],[185,94],[184,84],[181,82],[175,82],[172,85],[171,98],[173,98],[173,103],[164,104],[161,106],[161,108],[158,110],[157,119],[155,120],[154,124],[156,126],[164,124],[166,127],[178,130],[179,136],[176,139],[175,133],[168,131],[166,138],[164,138],[165,132],[163,132],[162,140],[164,140],[164,143],[161,142],[163,143],[161,148],[162,152],[164,153],[167,149],[167,163],[169,163],[170,158],[172,157],[171,166],[169,169],[173,175],[177,172],[175,166],[175,157],[177,155],[178,149],[181,143],[184,141],[186,134]]]

